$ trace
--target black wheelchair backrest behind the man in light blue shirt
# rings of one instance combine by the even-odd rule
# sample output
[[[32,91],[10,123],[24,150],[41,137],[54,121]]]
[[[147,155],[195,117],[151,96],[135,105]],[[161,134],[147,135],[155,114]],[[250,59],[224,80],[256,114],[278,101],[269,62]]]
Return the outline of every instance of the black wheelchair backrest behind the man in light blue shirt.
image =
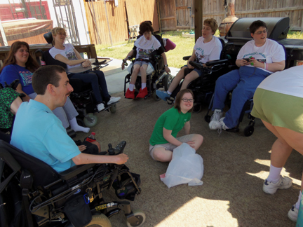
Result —
[[[1,151],[11,153],[13,158],[20,164],[22,169],[29,170],[34,178],[34,186],[46,186],[58,179],[61,179],[60,174],[55,171],[50,165],[44,163],[42,160],[30,156],[29,154],[15,148],[15,146],[0,140]],[[8,160],[6,157],[0,156],[7,165],[13,165],[12,160]]]

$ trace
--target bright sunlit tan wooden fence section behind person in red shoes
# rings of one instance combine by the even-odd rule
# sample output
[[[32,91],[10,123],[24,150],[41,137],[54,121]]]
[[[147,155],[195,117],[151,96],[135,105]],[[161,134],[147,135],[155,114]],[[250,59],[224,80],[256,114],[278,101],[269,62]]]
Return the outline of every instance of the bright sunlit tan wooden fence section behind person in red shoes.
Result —
[[[159,31],[156,0],[83,0],[90,42],[94,44],[119,43],[128,39],[128,26],[139,25],[144,20],[153,23]]]

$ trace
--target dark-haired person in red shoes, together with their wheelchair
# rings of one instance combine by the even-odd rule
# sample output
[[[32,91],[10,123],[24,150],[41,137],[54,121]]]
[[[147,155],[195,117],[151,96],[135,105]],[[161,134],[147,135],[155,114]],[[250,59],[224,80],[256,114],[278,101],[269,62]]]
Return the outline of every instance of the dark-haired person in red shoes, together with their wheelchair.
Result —
[[[166,59],[161,36],[153,34],[152,22],[144,21],[140,24],[140,36],[137,36],[133,50],[123,59],[122,69],[124,69],[127,60],[132,63],[128,66],[129,74],[126,75],[124,83],[124,95],[127,99],[144,98],[153,95],[158,101],[154,92],[156,88],[167,90],[172,76]],[[166,74],[164,74],[166,72]],[[140,76],[140,77],[137,77]],[[126,84],[130,83],[126,90]]]

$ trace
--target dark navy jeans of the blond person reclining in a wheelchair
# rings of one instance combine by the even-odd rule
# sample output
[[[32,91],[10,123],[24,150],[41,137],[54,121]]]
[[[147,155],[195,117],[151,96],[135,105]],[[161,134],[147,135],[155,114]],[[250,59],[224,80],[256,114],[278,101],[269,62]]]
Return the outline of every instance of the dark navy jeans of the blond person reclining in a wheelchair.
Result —
[[[79,78],[84,83],[90,83],[90,85],[93,88],[93,92],[94,92],[97,104],[102,102],[102,96],[106,99],[105,100],[106,102],[109,101],[109,93],[107,90],[107,83],[105,81],[105,75],[104,75],[103,71],[99,71],[99,70],[91,71],[90,70],[90,71],[86,71],[81,74],[69,74],[68,77],[69,78]],[[100,92],[99,86],[101,87],[101,92]],[[102,93],[102,96],[101,96],[101,93]]]

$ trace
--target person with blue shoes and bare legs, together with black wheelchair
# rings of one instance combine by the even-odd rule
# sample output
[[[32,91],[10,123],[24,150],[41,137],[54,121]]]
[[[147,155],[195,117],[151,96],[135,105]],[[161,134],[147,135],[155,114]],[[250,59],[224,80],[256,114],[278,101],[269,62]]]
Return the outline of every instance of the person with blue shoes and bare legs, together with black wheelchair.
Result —
[[[217,71],[217,68],[211,67],[218,64],[213,61],[220,60],[222,48],[224,47],[224,42],[214,36],[217,27],[218,25],[215,19],[204,20],[202,36],[196,41],[192,55],[183,57],[183,60],[188,60],[187,64],[184,65],[177,73],[177,76],[173,78],[167,92],[156,90],[158,97],[161,97],[164,101],[168,100],[168,103],[172,104],[177,92],[179,92],[180,89],[188,88],[194,92],[195,103],[201,106],[202,99],[205,98],[208,92],[212,92],[213,90],[213,83],[211,82],[215,81],[217,77],[208,75]],[[191,62],[193,62],[192,64],[196,67],[194,67]],[[206,81],[206,78],[208,81]],[[196,89],[196,87],[199,89]],[[201,90],[203,95],[201,95]],[[203,98],[201,96],[203,96]]]

